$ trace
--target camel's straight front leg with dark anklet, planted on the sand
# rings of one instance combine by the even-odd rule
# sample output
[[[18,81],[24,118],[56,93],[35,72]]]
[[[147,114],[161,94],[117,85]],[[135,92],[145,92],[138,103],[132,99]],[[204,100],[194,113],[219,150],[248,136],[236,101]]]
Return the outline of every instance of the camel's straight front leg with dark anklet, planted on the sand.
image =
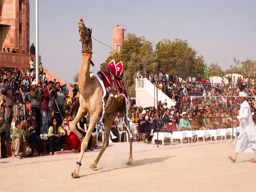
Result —
[[[91,119],[90,119],[90,124],[89,124],[88,130],[87,130],[87,133],[85,135],[85,139],[82,141],[82,144],[81,144],[80,156],[78,158],[78,161],[76,162],[74,170],[70,174],[71,177],[73,177],[73,178],[78,178],[79,177],[79,170],[80,170],[80,166],[82,165],[81,161],[82,161],[85,149],[88,146],[88,141],[89,141],[89,139],[92,135],[92,131],[93,131],[98,119],[99,119],[99,117],[98,118],[97,117],[95,117],[95,118],[91,117]]]

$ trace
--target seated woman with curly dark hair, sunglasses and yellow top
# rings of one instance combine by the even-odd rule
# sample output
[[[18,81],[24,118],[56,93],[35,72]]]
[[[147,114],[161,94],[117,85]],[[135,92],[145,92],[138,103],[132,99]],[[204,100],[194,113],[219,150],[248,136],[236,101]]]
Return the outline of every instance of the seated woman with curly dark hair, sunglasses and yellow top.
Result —
[[[60,127],[58,117],[52,116],[49,123],[48,140],[46,147],[50,149],[50,155],[53,151],[64,151],[63,144],[65,140],[65,131]]]

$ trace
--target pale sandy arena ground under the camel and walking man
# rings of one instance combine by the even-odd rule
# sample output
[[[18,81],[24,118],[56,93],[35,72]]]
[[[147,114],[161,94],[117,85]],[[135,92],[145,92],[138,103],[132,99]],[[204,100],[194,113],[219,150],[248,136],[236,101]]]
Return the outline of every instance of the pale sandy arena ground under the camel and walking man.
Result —
[[[256,191],[253,153],[237,162],[227,156],[235,148],[227,141],[165,146],[133,143],[133,165],[127,166],[128,143],[110,143],[95,170],[89,168],[99,150],[85,152],[79,172],[70,172],[79,154],[0,159],[0,191]],[[232,146],[235,142],[232,142]]]

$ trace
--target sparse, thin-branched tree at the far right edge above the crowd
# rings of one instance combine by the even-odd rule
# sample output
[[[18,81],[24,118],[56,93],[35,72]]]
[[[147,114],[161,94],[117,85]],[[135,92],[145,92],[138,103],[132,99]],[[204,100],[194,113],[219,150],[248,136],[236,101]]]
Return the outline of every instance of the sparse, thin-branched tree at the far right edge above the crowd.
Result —
[[[240,60],[236,60],[234,57],[235,64],[240,68],[241,75],[243,76],[251,76],[255,77],[256,75],[256,61],[249,60],[248,58],[246,61],[240,62]]]

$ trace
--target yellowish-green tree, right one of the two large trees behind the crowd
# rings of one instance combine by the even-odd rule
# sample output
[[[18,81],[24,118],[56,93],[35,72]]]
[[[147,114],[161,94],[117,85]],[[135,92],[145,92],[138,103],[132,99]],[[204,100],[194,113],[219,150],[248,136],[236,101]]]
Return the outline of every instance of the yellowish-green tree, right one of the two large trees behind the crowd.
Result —
[[[179,72],[184,77],[189,75],[197,79],[204,78],[204,58],[196,56],[196,50],[189,46],[187,40],[164,38],[156,44],[158,60],[162,72]]]

